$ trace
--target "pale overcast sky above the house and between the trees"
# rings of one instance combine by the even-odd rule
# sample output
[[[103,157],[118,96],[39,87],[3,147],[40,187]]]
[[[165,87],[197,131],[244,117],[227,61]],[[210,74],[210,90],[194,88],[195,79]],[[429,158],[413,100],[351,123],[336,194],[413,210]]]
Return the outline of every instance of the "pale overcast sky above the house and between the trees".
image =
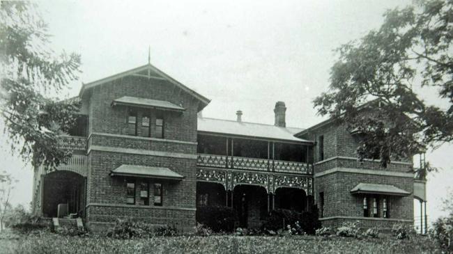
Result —
[[[388,8],[410,1],[42,1],[52,48],[82,56],[80,80],[87,83],[151,63],[208,97],[205,117],[273,123],[277,100],[284,101],[286,125],[309,127],[312,100],[328,90],[333,49],[358,39],[383,21]],[[435,93],[424,93],[435,100]],[[11,157],[2,141],[7,170],[20,180],[14,202],[31,201],[32,170]],[[453,145],[427,154],[443,168],[428,184],[430,220],[453,179]],[[416,214],[418,214],[418,207]]]

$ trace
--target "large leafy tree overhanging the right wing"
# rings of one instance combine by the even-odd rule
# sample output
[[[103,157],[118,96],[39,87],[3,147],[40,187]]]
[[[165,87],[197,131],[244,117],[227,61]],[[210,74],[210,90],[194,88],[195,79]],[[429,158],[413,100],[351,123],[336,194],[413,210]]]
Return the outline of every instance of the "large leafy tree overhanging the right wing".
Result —
[[[314,106],[362,135],[360,159],[377,154],[386,166],[453,140],[453,1],[416,1],[384,18],[379,29],[337,49],[330,92]],[[422,100],[417,90],[427,87],[446,108]]]

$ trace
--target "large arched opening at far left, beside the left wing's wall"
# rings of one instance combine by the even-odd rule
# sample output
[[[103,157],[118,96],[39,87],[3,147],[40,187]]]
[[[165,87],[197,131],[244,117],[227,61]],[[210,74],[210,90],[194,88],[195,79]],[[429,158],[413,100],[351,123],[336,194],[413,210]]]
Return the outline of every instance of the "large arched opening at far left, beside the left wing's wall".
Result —
[[[60,205],[60,212],[59,212]],[[66,170],[56,170],[44,177],[43,216],[84,216],[85,177]]]

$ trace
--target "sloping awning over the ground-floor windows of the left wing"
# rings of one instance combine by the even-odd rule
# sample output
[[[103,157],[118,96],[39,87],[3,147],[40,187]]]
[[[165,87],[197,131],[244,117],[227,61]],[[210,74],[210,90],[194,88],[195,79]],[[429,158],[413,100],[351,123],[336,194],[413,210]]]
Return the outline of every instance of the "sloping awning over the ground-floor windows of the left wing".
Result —
[[[118,168],[110,171],[112,176],[125,177],[146,177],[166,180],[182,180],[184,177],[169,168],[137,166],[137,165],[121,165]]]

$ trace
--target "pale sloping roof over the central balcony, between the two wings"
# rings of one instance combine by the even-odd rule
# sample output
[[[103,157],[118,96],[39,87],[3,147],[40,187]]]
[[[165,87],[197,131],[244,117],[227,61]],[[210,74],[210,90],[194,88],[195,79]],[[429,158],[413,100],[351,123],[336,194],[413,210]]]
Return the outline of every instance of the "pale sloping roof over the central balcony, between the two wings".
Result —
[[[198,118],[198,132],[210,134],[227,134],[230,136],[244,136],[252,138],[272,139],[279,141],[291,141],[297,143],[313,143],[302,138],[296,138],[294,134],[301,132],[300,128],[278,127],[264,125],[255,122],[238,122],[215,118]]]

